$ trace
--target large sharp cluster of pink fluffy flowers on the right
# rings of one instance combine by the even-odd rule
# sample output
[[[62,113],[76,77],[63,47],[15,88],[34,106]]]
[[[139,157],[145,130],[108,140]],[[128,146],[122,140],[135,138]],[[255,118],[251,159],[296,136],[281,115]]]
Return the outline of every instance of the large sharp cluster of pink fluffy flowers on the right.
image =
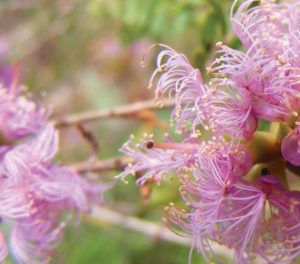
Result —
[[[158,102],[174,99],[170,128],[181,142],[146,135],[134,145],[131,138],[121,151],[134,163],[120,177],[139,173],[143,184],[179,175],[190,210],[168,207],[167,218],[191,234],[208,263],[217,258],[212,241],[233,249],[237,263],[257,255],[288,263],[300,255],[300,191],[289,190],[284,175],[286,164],[300,165],[300,1],[237,5],[231,23],[245,51],[217,43],[208,84],[183,54],[159,44],[164,50],[149,88],[155,86]],[[260,119],[288,132],[260,132]],[[256,157],[267,140],[261,135],[275,138],[279,149],[269,163]],[[261,147],[251,152],[258,140]]]

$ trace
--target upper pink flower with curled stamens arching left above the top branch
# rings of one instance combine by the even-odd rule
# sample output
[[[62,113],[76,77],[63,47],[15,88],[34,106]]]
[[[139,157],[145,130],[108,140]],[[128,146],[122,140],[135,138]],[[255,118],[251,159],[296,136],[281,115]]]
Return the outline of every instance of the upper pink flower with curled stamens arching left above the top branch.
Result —
[[[203,96],[207,96],[208,87],[203,83],[201,73],[194,69],[188,59],[168,46],[157,58],[157,69],[153,72],[149,88],[154,85],[155,79],[159,79],[155,88],[155,99],[159,100],[163,95],[175,98],[176,106],[172,112],[172,118],[177,121],[177,129],[181,130],[186,120],[193,120],[193,127],[205,123],[205,113],[197,111],[197,101],[202,102]]]

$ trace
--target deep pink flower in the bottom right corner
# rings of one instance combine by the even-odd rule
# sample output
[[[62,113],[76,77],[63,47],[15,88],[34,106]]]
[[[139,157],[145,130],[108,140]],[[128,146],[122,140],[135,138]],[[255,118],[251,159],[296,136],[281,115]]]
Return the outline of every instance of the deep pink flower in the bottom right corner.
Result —
[[[258,180],[268,206],[256,252],[270,263],[288,263],[299,256],[300,192],[287,191],[273,175]]]

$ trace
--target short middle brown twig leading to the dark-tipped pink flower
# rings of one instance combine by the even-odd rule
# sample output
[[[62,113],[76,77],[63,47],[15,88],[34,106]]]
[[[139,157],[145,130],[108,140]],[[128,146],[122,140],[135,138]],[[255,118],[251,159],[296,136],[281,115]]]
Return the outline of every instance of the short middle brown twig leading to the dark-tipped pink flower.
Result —
[[[77,172],[87,172],[87,171],[110,171],[110,170],[123,170],[128,163],[131,162],[129,158],[126,157],[116,157],[107,160],[91,160],[83,161],[80,163],[70,164],[68,167],[73,168]]]

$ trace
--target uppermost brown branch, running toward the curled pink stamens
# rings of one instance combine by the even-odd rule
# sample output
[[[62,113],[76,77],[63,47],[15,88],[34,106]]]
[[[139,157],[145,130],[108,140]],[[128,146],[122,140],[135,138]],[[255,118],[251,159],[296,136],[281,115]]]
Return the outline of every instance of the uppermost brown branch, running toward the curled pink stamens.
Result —
[[[152,100],[149,100],[117,106],[110,109],[71,114],[58,119],[54,123],[57,127],[72,126],[79,123],[92,122],[105,118],[128,117],[140,111],[156,110],[162,107],[172,107],[175,104],[174,100],[171,99],[163,99],[161,102],[162,104],[157,104]]]

